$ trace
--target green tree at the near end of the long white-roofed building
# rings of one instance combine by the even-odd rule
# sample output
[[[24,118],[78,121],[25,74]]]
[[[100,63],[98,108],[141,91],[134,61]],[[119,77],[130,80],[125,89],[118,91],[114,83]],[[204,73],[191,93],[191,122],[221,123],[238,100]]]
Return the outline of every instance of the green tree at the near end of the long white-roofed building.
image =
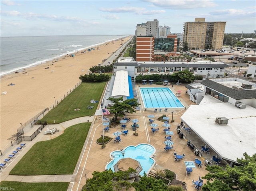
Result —
[[[114,121],[117,121],[117,117],[123,117],[125,113],[136,112],[135,108],[140,105],[137,99],[127,99],[123,101],[123,97],[120,98],[108,98],[113,105],[109,107],[111,113],[114,113]]]

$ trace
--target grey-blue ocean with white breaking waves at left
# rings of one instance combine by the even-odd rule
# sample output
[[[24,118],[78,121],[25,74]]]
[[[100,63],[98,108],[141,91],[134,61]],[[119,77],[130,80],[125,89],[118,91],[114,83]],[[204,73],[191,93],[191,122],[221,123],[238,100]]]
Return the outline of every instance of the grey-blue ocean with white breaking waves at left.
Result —
[[[1,37],[0,76],[127,35]]]

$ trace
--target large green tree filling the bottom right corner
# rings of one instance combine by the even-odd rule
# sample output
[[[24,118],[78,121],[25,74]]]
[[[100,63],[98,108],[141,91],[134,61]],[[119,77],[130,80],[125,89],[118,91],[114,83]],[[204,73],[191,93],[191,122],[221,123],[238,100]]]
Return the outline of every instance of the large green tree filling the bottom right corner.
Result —
[[[256,190],[256,154],[252,157],[244,153],[244,159],[236,160],[241,165],[226,168],[214,165],[206,167],[209,171],[204,179],[207,183],[202,187],[203,191],[231,191],[232,187],[238,187],[242,191]]]

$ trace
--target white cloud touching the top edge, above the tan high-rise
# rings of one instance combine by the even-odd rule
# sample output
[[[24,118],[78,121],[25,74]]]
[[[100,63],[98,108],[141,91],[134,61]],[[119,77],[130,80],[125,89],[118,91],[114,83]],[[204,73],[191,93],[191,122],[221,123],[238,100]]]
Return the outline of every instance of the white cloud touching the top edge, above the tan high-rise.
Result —
[[[212,0],[143,0],[144,2],[150,2],[153,6],[162,7],[166,9],[194,9],[194,8],[209,8],[215,7]]]

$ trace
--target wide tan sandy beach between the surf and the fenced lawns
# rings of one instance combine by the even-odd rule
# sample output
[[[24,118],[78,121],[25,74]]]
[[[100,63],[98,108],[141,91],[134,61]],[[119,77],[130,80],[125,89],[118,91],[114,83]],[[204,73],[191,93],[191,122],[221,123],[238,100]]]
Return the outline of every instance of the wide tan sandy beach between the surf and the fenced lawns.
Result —
[[[50,108],[67,95],[80,82],[79,76],[89,73],[89,68],[102,63],[130,39],[112,41],[95,47],[86,53],[75,53],[75,57],[62,57],[55,61],[1,77],[0,87],[0,149],[10,144],[20,123],[24,124],[45,108]],[[45,69],[49,67],[49,69]],[[15,85],[9,85],[10,83]],[[9,85],[9,86],[8,86]],[[2,95],[2,92],[7,92]],[[16,143],[15,143],[16,144]]]

